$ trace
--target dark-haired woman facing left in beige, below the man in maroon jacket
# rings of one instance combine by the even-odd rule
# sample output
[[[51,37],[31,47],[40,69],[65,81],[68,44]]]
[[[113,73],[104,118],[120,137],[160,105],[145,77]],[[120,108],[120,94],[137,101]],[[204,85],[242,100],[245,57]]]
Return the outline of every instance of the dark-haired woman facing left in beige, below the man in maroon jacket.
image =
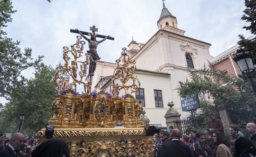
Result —
[[[216,153],[216,157],[233,157],[229,147],[226,146],[227,140],[222,132],[215,131],[213,133],[213,142],[216,144],[213,150]]]

